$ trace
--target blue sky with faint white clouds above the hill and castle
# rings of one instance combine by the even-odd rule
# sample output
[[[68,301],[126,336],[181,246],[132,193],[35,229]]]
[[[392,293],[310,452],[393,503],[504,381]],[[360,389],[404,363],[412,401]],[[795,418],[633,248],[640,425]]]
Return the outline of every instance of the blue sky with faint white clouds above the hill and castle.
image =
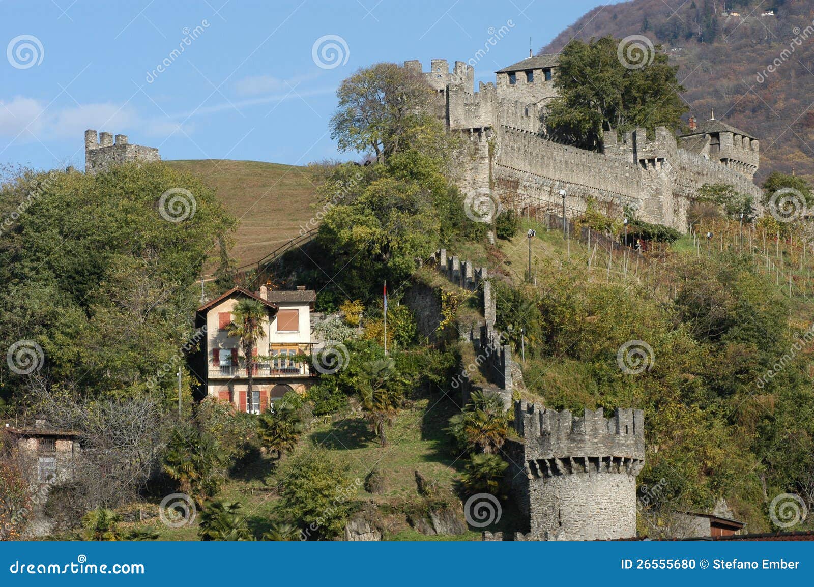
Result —
[[[0,163],[84,169],[87,128],[164,159],[351,158],[328,120],[357,68],[469,61],[505,27],[475,65],[493,81],[602,3],[0,0]]]

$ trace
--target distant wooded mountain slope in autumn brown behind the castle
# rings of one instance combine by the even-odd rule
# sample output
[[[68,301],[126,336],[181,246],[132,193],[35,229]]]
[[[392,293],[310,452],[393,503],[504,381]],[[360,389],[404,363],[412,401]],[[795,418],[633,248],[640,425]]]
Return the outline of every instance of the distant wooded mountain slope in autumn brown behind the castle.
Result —
[[[742,16],[721,15],[724,3],[734,5]],[[541,52],[557,52],[572,37],[644,34],[668,51],[676,49],[670,51],[671,61],[681,66],[678,77],[687,90],[684,97],[698,120],[707,120],[714,108],[716,118],[761,139],[759,177],[772,170],[790,173],[795,169],[814,178],[809,146],[814,116],[808,112],[814,92],[814,44],[801,36],[814,17],[812,2],[667,4],[632,0],[597,7]],[[776,15],[761,16],[770,8]],[[776,59],[777,71],[764,72]]]

